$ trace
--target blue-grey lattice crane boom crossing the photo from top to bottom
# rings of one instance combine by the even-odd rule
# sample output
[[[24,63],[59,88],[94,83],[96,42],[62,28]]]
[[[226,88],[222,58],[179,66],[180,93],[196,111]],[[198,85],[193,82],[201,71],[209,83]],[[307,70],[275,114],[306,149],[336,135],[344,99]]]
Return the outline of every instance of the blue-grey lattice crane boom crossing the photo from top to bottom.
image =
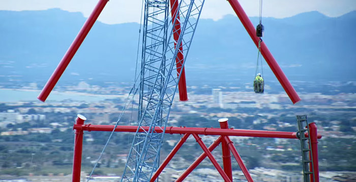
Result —
[[[155,127],[166,127],[204,1],[170,3],[145,1],[137,125],[149,128],[136,132],[122,181],[149,181],[159,167],[163,133]]]

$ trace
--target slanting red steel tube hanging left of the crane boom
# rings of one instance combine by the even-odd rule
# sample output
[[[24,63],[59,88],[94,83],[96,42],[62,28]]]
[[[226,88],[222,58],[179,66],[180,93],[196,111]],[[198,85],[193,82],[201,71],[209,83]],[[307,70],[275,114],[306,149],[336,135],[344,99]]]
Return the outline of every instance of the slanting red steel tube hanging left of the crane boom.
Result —
[[[48,95],[53,90],[55,84],[61,78],[64,70],[67,68],[69,62],[72,60],[73,56],[79,49],[81,43],[84,41],[86,35],[94,25],[95,21],[98,19],[101,11],[104,9],[108,0],[100,0],[97,6],[94,8],[92,14],[85,21],[83,27],[80,29],[77,37],[74,39],[72,45],[67,50],[66,54],[63,56],[61,62],[58,64],[57,68],[54,70],[52,76],[47,81],[46,85],[43,87],[40,95],[38,95],[38,99],[42,102],[46,101]]]

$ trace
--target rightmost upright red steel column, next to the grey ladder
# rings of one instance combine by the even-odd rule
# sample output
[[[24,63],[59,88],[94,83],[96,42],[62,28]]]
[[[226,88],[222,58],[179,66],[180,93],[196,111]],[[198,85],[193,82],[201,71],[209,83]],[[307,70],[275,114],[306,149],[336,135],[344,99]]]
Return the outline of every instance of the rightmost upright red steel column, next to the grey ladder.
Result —
[[[318,159],[318,134],[315,123],[309,124],[309,132],[310,132],[310,142],[311,149],[313,153],[313,171],[315,175],[315,182],[319,182],[319,159]],[[311,181],[313,178],[311,177]]]

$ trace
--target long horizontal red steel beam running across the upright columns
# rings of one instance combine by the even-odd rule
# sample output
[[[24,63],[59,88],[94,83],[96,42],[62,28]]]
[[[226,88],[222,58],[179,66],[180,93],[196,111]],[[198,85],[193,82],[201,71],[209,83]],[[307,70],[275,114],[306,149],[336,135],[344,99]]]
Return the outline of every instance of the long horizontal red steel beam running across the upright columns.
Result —
[[[74,125],[74,129],[81,129],[85,131],[112,131],[114,125]],[[138,131],[149,131],[149,126],[141,126]],[[117,126],[116,132],[136,132],[137,126]],[[163,133],[163,129],[155,127],[155,132]],[[293,138],[296,137],[296,132],[287,131],[264,131],[264,130],[244,130],[244,129],[220,129],[220,128],[190,128],[190,127],[167,127],[164,131],[170,134],[203,134],[203,135],[229,135],[229,136],[250,136],[250,137],[267,137],[267,138]],[[306,135],[308,137],[308,135]],[[317,134],[317,138],[321,138]]]

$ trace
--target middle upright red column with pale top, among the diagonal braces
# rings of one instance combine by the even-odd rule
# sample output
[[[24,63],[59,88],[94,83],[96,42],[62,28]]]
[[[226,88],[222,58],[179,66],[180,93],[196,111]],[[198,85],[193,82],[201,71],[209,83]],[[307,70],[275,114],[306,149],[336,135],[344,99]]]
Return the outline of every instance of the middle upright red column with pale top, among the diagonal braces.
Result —
[[[227,120],[228,120],[227,118],[222,118],[219,120],[221,129],[229,128],[229,124],[227,123]],[[221,148],[222,148],[224,171],[226,175],[229,177],[229,179],[232,181],[231,155],[226,140],[221,141]]]

